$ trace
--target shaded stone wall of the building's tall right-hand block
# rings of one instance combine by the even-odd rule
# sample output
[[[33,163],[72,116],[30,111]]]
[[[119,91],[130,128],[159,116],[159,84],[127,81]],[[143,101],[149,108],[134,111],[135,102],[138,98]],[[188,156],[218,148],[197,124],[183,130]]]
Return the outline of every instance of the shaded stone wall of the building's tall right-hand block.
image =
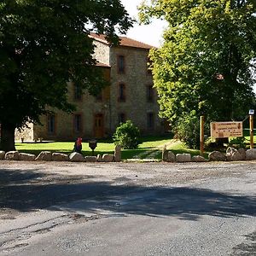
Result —
[[[118,55],[125,56],[125,73],[118,73]],[[159,105],[154,90],[154,101],[147,101],[147,86],[153,85],[151,73],[148,73],[148,49],[132,47],[111,48],[111,105],[113,130],[118,125],[118,113],[125,113],[126,119],[139,127],[144,134],[164,132],[163,122],[158,117]],[[125,84],[125,102],[119,102],[119,83]],[[147,114],[154,114],[154,129],[148,129]]]

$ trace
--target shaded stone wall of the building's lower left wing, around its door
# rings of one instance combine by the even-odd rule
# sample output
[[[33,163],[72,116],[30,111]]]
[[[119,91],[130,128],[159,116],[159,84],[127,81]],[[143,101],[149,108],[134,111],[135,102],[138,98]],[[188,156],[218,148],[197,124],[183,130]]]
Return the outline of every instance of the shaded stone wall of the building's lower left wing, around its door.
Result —
[[[107,69],[107,68],[106,68]],[[55,113],[55,132],[48,132],[48,117],[42,116],[43,125],[35,125],[34,136],[43,137],[44,140],[70,141],[77,137],[91,138],[95,137],[94,124],[95,115],[102,113],[104,136],[108,136],[109,131],[109,89],[105,88],[102,93],[102,101],[97,101],[95,96],[90,96],[85,92],[81,100],[73,98],[73,84],[68,84],[68,100],[76,105],[74,113],[64,113],[60,110],[50,109]],[[82,131],[76,132],[74,129],[74,115],[80,114],[82,121]]]

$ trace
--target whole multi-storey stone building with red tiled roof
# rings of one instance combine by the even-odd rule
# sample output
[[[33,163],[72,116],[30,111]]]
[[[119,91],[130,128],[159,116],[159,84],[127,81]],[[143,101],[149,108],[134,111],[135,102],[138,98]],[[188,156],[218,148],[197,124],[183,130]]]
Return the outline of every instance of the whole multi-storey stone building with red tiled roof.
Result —
[[[68,84],[68,98],[77,106],[73,114],[59,110],[42,117],[42,125],[16,132],[16,139],[73,140],[76,137],[110,137],[126,119],[142,134],[163,133],[165,125],[158,117],[159,105],[148,71],[148,51],[152,46],[120,37],[119,46],[111,46],[103,35],[91,34],[96,44],[95,58],[110,86],[100,96],[80,94],[75,84]]]

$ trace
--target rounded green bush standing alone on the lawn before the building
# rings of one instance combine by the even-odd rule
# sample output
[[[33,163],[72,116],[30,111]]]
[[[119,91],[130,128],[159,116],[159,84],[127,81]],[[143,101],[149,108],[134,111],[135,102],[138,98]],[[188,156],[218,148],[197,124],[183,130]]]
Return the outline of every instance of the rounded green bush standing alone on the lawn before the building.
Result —
[[[139,144],[140,131],[133,125],[131,120],[120,124],[113,134],[113,143],[125,149],[137,148]]]

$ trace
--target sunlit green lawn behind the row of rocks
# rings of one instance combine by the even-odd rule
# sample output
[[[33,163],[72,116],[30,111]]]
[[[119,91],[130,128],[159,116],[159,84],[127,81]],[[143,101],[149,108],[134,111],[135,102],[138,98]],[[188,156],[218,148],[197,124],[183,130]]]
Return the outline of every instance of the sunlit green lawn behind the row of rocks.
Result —
[[[244,131],[244,136],[249,143],[249,131]],[[168,150],[172,150],[174,154],[189,153],[192,156],[200,154],[200,150],[190,149],[185,146],[184,143],[173,140],[170,135],[158,136],[158,137],[142,137],[141,144],[136,149],[123,149],[122,159],[146,159],[154,158],[161,159],[162,148],[166,144]],[[256,143],[256,136],[254,136],[254,143]],[[38,155],[41,151],[60,152],[64,154],[71,154],[73,151],[73,142],[44,142],[44,143],[16,143],[16,149],[20,152],[36,154]],[[94,152],[96,154],[113,154],[114,144],[112,140],[99,140],[97,147]],[[82,154],[92,155],[92,151],[89,148],[89,143],[83,143]],[[204,157],[207,158],[209,152],[204,153]]]

